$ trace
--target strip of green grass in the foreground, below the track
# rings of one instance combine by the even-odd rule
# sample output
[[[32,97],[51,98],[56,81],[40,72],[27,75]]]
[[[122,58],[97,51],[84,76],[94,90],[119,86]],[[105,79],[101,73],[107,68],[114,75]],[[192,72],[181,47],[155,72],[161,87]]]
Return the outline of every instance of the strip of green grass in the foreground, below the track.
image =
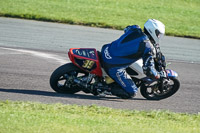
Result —
[[[0,101],[0,133],[199,133],[200,114]]]

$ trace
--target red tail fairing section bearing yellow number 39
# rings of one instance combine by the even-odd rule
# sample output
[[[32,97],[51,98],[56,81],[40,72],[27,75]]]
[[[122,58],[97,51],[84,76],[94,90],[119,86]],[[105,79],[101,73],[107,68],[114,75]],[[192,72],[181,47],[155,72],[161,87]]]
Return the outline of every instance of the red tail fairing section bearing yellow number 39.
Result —
[[[68,56],[73,64],[84,71],[102,76],[99,56],[94,48],[70,48]]]

